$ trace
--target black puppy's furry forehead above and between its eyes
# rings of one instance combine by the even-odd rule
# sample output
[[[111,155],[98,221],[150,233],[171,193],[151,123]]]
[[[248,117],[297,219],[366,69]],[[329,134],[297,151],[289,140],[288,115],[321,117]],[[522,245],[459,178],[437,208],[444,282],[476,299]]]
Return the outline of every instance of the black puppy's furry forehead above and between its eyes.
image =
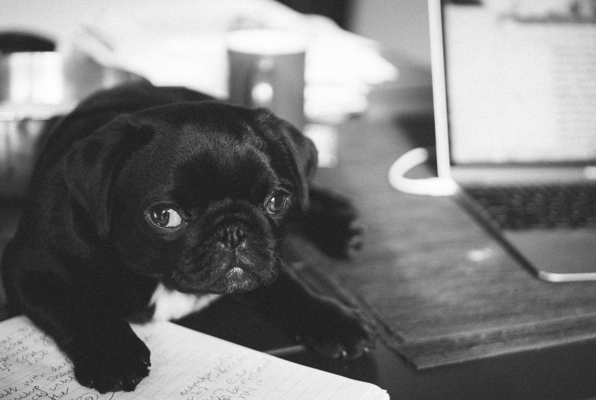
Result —
[[[183,207],[226,198],[260,204],[283,182],[266,142],[248,126],[232,132],[183,126],[178,135],[162,135],[153,144],[169,164],[169,192]]]

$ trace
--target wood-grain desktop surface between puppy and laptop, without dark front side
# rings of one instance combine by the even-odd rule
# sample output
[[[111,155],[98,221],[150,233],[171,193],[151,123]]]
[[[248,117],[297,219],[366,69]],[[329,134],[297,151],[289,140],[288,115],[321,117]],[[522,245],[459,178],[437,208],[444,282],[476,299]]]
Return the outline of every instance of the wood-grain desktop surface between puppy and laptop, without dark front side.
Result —
[[[433,137],[432,116],[400,114],[399,99],[392,113],[391,96],[373,96],[367,115],[339,127],[339,165],[316,177],[355,201],[367,229],[352,261],[318,268],[367,304],[384,342],[418,368],[596,337],[596,282],[542,282],[455,199],[389,185],[392,162]]]

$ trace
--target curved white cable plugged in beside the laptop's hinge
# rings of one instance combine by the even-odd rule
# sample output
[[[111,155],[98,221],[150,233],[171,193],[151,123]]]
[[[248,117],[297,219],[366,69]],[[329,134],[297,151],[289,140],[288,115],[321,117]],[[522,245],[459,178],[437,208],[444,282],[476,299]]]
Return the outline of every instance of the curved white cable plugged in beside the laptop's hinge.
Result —
[[[429,151],[418,147],[399,157],[389,168],[389,183],[395,189],[413,195],[451,196],[458,191],[457,183],[448,178],[410,179],[404,175],[429,159]]]

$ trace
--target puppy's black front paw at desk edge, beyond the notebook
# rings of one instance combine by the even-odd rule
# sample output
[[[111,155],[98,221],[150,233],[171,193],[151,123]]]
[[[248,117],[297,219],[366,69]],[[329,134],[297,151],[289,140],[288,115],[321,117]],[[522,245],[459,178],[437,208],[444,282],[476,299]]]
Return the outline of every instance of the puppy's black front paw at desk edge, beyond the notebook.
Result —
[[[321,300],[297,325],[297,339],[318,354],[331,358],[355,359],[373,347],[373,336],[358,317],[331,300]]]

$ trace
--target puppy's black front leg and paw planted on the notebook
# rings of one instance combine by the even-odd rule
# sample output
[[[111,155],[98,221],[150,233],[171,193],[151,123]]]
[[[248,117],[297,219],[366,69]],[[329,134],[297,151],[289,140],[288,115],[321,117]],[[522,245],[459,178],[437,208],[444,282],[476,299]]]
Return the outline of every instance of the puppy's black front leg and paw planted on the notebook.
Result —
[[[26,313],[52,336],[82,385],[101,393],[134,390],[149,373],[149,349],[126,321],[104,310],[101,297],[116,290],[65,279],[68,262],[9,243],[2,274],[11,314]]]

